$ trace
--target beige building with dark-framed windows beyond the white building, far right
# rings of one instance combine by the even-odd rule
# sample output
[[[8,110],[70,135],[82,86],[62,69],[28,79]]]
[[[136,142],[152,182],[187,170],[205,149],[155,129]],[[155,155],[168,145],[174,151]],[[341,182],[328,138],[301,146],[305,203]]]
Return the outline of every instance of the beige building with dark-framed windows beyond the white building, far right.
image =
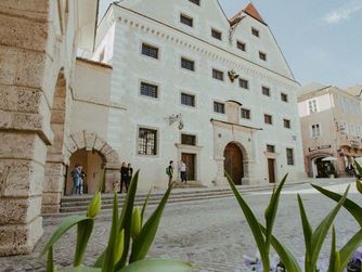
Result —
[[[361,99],[353,91],[319,83],[300,89],[298,107],[309,177],[328,177],[333,168],[346,176],[347,167],[362,156]]]

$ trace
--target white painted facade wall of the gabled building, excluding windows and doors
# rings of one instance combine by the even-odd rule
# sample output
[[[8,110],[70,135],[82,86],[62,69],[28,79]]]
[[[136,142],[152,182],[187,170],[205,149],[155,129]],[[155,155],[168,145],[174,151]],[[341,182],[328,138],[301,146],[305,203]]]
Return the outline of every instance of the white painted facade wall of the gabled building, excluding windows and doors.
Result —
[[[126,112],[109,109],[107,141],[116,148],[121,160],[131,163],[134,168],[141,168],[141,187],[151,184],[158,187],[167,184],[165,167],[170,159],[178,160],[177,143],[180,143],[180,131],[177,125],[169,126],[166,118],[172,114],[182,114],[183,132],[197,135],[198,167],[197,177],[206,185],[217,178],[218,161],[216,160],[216,135],[210,119],[227,121],[227,114],[214,113],[214,101],[225,102],[235,100],[246,108],[251,109],[251,120],[241,120],[241,125],[261,128],[249,137],[247,132],[238,134],[241,144],[248,146],[247,152],[253,161],[250,176],[253,182],[266,182],[268,178],[266,145],[276,147],[276,173],[281,179],[290,172],[290,179],[303,176],[301,137],[297,113],[296,89],[284,59],[279,51],[275,40],[264,25],[253,18],[246,18],[240,25],[236,35],[248,37],[249,27],[260,28],[260,40],[248,37],[248,56],[234,49],[228,40],[229,23],[217,5],[217,1],[202,1],[206,7],[192,7],[189,1],[122,1],[122,9],[113,5],[112,14],[116,22],[113,49],[112,83],[109,100],[127,108]],[[142,3],[142,4],[141,4]],[[159,9],[157,8],[159,7]],[[143,15],[128,9],[134,9]],[[195,15],[195,29],[182,29],[179,11]],[[197,11],[197,12],[196,12]],[[196,14],[198,16],[196,17]],[[167,23],[167,25],[165,25]],[[168,26],[171,25],[172,27]],[[224,40],[218,41],[209,37],[211,26],[222,30]],[[182,31],[180,31],[182,30]],[[197,36],[197,37],[194,37]],[[244,37],[244,36],[243,36]],[[159,60],[141,54],[142,42],[157,46],[160,50]],[[102,42],[100,43],[102,44]],[[256,52],[270,49],[267,63],[253,59]],[[236,55],[237,54],[237,55]],[[180,68],[180,59],[185,56],[195,61],[195,72]],[[259,57],[259,55],[257,55]],[[224,81],[212,79],[211,70],[217,68],[224,72]],[[228,70],[234,69],[243,78],[249,80],[249,90],[231,83]],[[159,98],[150,99],[140,95],[140,81],[150,81],[159,86]],[[271,89],[271,96],[262,95],[261,87]],[[196,96],[194,108],[180,103],[181,91]],[[281,92],[288,95],[288,102],[281,101]],[[266,125],[263,115],[273,116],[273,125]],[[283,119],[292,121],[292,129],[283,127]],[[147,127],[158,131],[157,156],[138,155],[138,128]],[[233,141],[233,133],[225,133],[228,141]],[[250,139],[250,143],[246,142]],[[295,151],[295,166],[286,164],[286,148]],[[223,152],[223,150],[222,150]]]

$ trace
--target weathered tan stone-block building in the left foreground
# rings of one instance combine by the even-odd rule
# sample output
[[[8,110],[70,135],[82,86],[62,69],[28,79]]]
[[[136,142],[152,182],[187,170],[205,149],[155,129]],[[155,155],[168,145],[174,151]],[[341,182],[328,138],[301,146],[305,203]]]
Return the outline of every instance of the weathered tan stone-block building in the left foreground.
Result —
[[[98,4],[0,1],[0,256],[30,252],[41,210],[59,211],[76,53],[93,49]]]

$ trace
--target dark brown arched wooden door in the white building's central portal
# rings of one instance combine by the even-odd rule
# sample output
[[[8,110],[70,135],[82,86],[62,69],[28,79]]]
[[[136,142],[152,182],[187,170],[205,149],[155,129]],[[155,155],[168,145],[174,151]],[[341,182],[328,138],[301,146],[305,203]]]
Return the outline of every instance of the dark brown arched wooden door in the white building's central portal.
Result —
[[[241,185],[244,178],[243,153],[235,143],[229,143],[223,152],[224,171],[232,178],[235,184]]]

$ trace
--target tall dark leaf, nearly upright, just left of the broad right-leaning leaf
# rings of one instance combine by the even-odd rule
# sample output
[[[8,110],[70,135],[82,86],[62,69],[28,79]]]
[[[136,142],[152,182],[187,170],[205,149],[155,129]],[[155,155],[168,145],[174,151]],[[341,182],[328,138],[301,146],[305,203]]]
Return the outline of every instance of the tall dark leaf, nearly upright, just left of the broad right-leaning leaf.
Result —
[[[125,267],[127,262],[127,258],[128,258],[129,245],[130,245],[130,239],[131,239],[131,226],[132,226],[134,198],[135,198],[137,186],[139,183],[139,173],[140,173],[140,170],[135,172],[135,174],[133,176],[131,180],[131,183],[127,191],[127,196],[124,203],[121,215],[119,218],[118,232],[120,233],[121,230],[125,230],[125,244],[124,244],[122,257],[120,258],[119,262],[116,264],[116,270],[119,270],[122,267]]]

